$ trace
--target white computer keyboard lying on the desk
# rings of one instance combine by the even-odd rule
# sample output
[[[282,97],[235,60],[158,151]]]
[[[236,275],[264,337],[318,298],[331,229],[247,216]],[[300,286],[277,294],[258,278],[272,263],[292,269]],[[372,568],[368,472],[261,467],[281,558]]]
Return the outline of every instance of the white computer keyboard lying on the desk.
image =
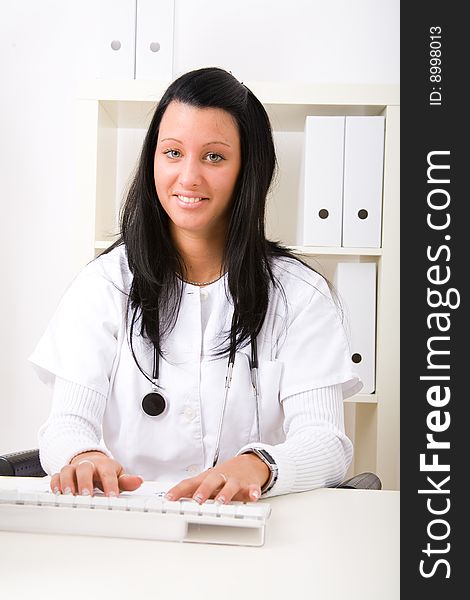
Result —
[[[217,504],[161,495],[55,495],[0,490],[0,530],[260,546],[263,502]]]

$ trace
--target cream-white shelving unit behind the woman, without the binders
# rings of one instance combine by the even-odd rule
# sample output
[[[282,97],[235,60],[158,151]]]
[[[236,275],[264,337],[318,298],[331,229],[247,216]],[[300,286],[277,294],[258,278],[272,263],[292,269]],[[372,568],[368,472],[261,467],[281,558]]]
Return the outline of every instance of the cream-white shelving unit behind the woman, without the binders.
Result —
[[[106,248],[145,131],[169,82],[83,82],[77,101],[77,186],[82,262]],[[271,119],[279,173],[268,201],[268,237],[302,254],[327,276],[338,260],[377,264],[376,392],[346,405],[354,440],[351,472],[370,470],[386,489],[399,488],[399,87],[246,83]],[[307,115],[383,115],[385,153],[382,247],[297,246],[298,190]]]

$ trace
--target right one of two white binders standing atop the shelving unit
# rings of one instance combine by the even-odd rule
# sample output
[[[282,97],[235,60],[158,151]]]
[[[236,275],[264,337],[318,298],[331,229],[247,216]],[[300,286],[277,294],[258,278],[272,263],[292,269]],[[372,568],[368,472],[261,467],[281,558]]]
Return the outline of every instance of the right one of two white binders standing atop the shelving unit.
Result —
[[[174,0],[137,0],[136,79],[173,77]]]

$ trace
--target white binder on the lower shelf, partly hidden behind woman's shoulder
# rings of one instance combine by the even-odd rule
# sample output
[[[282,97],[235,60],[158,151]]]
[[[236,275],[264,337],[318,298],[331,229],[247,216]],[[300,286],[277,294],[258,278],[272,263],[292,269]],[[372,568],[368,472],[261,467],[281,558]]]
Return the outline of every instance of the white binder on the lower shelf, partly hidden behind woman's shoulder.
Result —
[[[354,369],[364,387],[361,394],[375,391],[376,264],[336,265],[334,284],[341,301]]]

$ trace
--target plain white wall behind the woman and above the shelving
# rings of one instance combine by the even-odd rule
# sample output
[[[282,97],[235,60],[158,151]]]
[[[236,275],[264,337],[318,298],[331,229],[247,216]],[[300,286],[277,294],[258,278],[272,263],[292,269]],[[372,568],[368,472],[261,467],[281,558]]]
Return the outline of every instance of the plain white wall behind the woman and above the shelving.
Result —
[[[36,446],[50,392],[27,357],[81,267],[74,97],[97,73],[97,2],[0,0],[0,452]],[[399,0],[176,0],[175,18],[175,75],[399,82]]]

